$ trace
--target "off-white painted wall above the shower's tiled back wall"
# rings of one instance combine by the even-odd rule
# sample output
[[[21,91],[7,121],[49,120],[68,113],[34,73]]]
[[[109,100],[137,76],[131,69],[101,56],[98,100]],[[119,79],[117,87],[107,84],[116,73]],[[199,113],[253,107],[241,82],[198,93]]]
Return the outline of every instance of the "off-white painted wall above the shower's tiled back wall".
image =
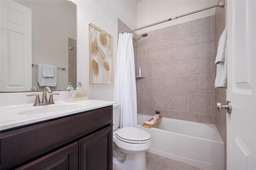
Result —
[[[142,0],[137,6],[137,27],[217,4],[216,0]],[[137,31],[137,34],[214,15],[215,8]]]

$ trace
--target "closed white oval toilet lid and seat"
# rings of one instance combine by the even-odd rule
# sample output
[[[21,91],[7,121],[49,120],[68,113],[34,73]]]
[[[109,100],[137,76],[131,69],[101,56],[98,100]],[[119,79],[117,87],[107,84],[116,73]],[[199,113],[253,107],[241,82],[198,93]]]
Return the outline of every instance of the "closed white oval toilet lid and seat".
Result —
[[[146,143],[151,140],[148,132],[136,127],[123,127],[116,132],[116,137],[129,143]]]

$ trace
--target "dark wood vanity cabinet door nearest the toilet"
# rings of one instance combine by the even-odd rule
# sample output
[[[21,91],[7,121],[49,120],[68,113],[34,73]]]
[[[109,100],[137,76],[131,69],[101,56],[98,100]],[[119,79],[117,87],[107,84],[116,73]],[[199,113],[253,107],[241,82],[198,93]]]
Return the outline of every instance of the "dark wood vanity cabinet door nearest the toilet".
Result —
[[[112,169],[112,125],[79,140],[80,170]]]

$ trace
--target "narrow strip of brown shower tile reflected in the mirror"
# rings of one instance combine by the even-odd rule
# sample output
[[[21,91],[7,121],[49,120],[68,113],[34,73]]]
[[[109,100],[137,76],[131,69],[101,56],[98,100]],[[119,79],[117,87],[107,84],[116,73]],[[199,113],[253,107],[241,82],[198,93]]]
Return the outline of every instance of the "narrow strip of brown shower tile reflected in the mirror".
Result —
[[[68,38],[68,82],[76,89],[76,48],[69,47],[76,47],[76,40]]]

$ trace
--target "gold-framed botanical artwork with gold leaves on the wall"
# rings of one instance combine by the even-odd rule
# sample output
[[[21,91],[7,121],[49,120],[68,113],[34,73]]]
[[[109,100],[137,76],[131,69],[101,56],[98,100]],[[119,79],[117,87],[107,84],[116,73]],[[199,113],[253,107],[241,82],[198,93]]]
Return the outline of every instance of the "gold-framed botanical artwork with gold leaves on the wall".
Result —
[[[89,24],[90,84],[112,85],[113,37],[100,28]]]

